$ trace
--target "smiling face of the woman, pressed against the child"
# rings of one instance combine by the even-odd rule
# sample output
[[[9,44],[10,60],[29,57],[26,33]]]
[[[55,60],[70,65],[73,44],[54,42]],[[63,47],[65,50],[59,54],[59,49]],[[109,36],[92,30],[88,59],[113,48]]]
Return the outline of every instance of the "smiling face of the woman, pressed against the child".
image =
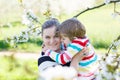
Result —
[[[56,27],[50,27],[43,30],[43,43],[47,49],[54,51],[60,50],[61,38],[60,35],[56,34]]]

